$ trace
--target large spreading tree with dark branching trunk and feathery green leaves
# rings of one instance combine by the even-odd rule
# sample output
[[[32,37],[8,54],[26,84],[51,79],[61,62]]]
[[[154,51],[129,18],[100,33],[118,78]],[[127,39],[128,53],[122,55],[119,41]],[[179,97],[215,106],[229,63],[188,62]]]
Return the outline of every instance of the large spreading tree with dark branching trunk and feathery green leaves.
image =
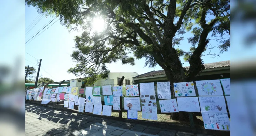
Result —
[[[107,77],[106,64],[121,60],[135,64],[145,58],[145,66],[160,65],[171,84],[192,81],[205,67],[201,57],[217,47],[230,47],[230,0],[26,0],[40,13],[56,14],[69,30],[82,27],[75,37],[72,57],[76,67],[69,73]],[[104,31],[93,31],[93,18],[102,18]],[[187,50],[178,46],[183,34],[191,31]],[[219,42],[211,46],[211,40]],[[186,45],[187,46],[187,45]],[[212,54],[215,55],[215,54]],[[180,61],[184,56],[190,68]]]

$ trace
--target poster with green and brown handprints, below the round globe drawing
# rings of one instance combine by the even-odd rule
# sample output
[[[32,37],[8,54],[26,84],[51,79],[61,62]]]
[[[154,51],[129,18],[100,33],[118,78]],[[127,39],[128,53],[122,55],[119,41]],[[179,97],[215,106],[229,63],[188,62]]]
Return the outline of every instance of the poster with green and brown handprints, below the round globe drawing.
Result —
[[[227,112],[224,96],[199,96],[198,98],[201,112]]]

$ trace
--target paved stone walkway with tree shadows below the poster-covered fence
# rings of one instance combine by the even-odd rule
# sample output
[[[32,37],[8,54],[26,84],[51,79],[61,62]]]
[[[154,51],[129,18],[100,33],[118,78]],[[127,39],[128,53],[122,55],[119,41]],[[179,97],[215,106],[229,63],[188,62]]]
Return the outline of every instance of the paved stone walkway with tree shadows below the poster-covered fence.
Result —
[[[25,117],[26,136],[194,136],[193,133],[164,130],[30,104],[26,104]]]

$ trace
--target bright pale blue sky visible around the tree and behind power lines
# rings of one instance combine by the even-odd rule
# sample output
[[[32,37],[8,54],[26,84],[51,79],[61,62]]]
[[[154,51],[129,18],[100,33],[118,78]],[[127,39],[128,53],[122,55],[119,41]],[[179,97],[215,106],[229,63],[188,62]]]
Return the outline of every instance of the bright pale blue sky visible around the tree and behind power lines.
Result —
[[[39,13],[35,7],[28,7],[26,5],[26,29],[38,15]],[[33,34],[35,34],[38,30],[40,30],[45,24],[47,24],[52,18],[53,17],[50,16],[47,18],[43,16],[42,19],[31,30],[31,32],[26,35],[26,41],[30,39],[30,37],[33,36]],[[53,22],[55,22],[55,20]],[[76,62],[72,60],[69,54],[72,54],[72,51],[75,50],[75,48],[73,48],[75,46],[73,39],[76,35],[80,35],[80,33],[81,32],[74,31],[69,32],[65,26],[60,24],[58,20],[49,29],[45,30],[37,38],[31,40],[31,42],[29,41],[26,44],[27,53],[38,59],[42,59],[42,67],[39,75],[51,78],[54,81],[77,78],[75,75],[67,73],[67,70],[70,67],[74,67],[76,65]],[[192,36],[192,34],[187,32],[183,36],[185,40],[181,41],[181,44],[178,48],[188,51],[190,44],[187,43],[187,38]],[[216,42],[212,41],[211,44],[216,45]],[[219,50],[217,48],[212,49],[211,53],[214,52],[219,53]],[[30,55],[25,53],[25,65],[34,66],[37,68],[38,66],[35,65],[37,64],[36,59]],[[230,60],[230,51],[220,54],[220,57],[218,58],[211,57],[212,56],[203,56],[202,58],[205,63]],[[183,66],[189,66],[189,63],[184,62],[182,58],[181,61],[184,63]],[[117,63],[108,65],[108,69],[111,72],[137,72],[139,74],[162,69],[160,66],[157,66],[156,68],[143,68],[144,63],[145,59],[136,60],[134,66],[122,65],[121,62],[118,61]],[[132,79],[132,77],[130,78]]]

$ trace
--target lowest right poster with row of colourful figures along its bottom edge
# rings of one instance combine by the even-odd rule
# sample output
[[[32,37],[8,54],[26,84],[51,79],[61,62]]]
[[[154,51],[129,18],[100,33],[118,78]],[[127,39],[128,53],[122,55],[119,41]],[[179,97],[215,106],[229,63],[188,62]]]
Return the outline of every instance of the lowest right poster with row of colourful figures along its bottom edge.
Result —
[[[202,118],[205,129],[230,131],[227,113],[202,113]]]

